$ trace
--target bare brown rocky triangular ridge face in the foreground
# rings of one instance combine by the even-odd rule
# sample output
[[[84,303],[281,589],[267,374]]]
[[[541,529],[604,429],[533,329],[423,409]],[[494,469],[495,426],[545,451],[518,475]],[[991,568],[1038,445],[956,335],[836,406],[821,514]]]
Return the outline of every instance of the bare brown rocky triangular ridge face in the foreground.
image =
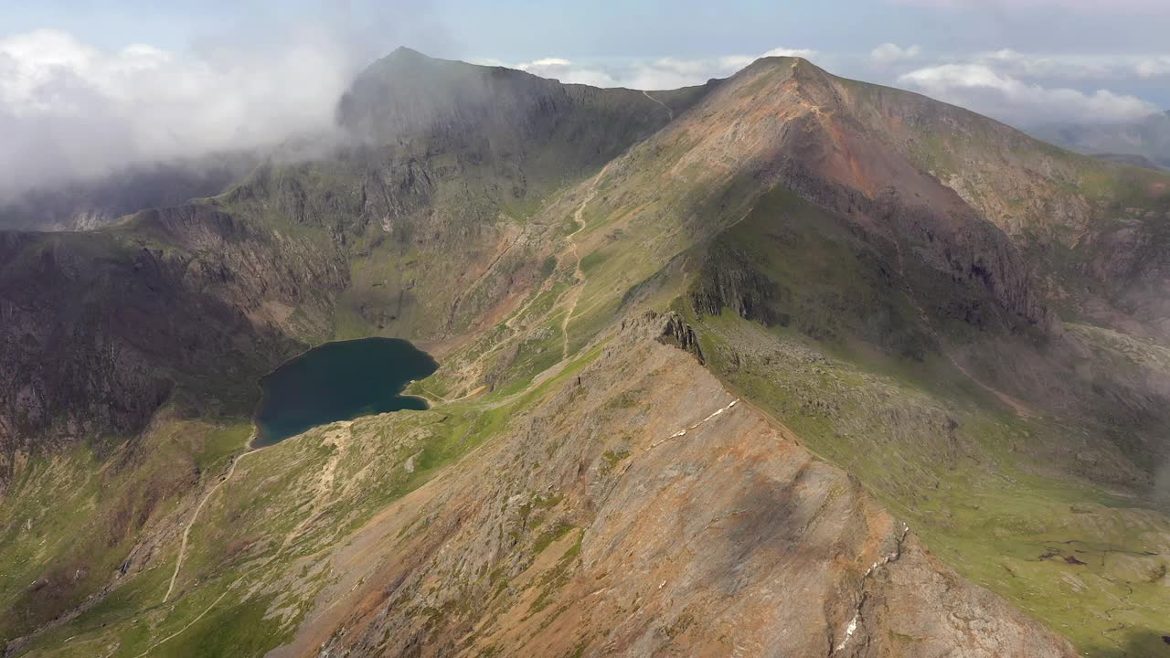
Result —
[[[688,330],[628,322],[388,508],[273,656],[1075,656],[654,340]]]

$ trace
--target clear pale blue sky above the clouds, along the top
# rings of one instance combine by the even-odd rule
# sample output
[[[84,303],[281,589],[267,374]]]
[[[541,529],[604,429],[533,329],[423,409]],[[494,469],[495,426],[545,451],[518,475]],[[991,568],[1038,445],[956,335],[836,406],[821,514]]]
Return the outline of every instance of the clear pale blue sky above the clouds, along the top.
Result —
[[[714,56],[778,43],[825,52],[869,43],[920,43],[936,50],[1145,54],[1165,47],[1164,0],[46,0],[7,2],[4,32],[71,32],[108,48],[149,42],[180,49],[228,28],[268,22],[394,23],[429,18],[441,34],[418,46],[453,57]],[[1165,5],[1166,8],[1159,8]],[[386,49],[393,44],[387,43]],[[555,53],[556,52],[556,53]]]

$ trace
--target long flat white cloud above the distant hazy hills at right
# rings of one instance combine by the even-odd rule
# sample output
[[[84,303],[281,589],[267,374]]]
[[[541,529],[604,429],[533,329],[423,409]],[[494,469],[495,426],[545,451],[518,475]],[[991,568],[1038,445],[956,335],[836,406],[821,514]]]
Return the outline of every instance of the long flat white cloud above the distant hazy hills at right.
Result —
[[[1106,89],[1085,92],[1042,87],[980,63],[921,68],[900,76],[899,82],[1004,121],[1124,121],[1157,111],[1155,105],[1135,96]]]

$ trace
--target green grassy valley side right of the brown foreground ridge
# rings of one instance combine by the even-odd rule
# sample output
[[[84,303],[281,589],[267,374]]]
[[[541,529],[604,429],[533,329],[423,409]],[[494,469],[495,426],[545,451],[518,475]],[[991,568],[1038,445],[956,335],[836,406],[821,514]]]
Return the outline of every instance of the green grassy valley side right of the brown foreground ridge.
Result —
[[[937,375],[840,361],[730,314],[701,327],[708,364],[732,390],[860,478],[961,575],[1094,656],[1156,646],[1149,633],[1170,606],[1157,577],[1170,564],[1170,523],[1130,498],[1058,475],[1047,460],[1051,446],[1068,441],[1062,426],[1017,418],[954,379],[931,385]],[[729,361],[752,345],[768,345],[766,363]]]

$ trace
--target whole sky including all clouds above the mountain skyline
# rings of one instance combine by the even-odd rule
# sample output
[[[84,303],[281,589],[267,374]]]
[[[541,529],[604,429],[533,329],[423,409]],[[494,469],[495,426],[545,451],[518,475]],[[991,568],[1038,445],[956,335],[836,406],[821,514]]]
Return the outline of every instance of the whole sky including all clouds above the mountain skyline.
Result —
[[[765,54],[1018,126],[1170,109],[1170,0],[0,0],[0,197],[324,130],[398,46],[667,89]]]

